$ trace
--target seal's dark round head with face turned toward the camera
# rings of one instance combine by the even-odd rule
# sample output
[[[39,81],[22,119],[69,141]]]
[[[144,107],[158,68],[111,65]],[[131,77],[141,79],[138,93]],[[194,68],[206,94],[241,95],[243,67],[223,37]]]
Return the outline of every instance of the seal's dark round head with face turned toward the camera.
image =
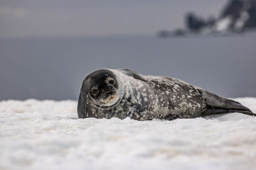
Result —
[[[84,78],[77,108],[77,112],[81,114],[78,115],[84,115],[82,108],[86,104],[93,104],[102,110],[112,108],[120,101],[122,93],[122,82],[111,69],[93,71]]]

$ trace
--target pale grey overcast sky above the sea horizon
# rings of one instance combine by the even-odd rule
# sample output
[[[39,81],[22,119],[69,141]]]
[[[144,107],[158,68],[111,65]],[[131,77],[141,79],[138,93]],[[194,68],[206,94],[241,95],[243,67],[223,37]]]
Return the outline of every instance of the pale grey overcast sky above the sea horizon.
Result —
[[[1,0],[0,37],[154,34],[184,13],[218,17],[225,0]]]

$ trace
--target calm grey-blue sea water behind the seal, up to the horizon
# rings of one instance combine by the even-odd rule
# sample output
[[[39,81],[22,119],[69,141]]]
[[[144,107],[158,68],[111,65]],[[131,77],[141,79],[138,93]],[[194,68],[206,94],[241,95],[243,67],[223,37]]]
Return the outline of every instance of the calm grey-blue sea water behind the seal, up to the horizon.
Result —
[[[224,97],[256,96],[256,36],[0,39],[0,100],[77,99],[86,74],[129,68]]]

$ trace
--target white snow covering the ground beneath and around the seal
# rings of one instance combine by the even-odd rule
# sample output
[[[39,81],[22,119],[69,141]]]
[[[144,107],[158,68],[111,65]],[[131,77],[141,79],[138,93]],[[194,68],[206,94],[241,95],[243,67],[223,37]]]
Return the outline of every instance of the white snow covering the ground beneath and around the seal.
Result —
[[[256,98],[238,98],[256,112]],[[255,169],[256,117],[77,119],[77,101],[1,101],[0,169]]]

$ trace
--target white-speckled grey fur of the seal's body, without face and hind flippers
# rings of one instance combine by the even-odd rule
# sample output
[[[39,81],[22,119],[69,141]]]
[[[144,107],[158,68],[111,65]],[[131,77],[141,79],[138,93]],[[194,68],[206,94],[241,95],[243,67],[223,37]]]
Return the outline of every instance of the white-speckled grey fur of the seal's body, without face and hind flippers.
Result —
[[[152,120],[153,118],[173,120],[202,117],[208,108],[205,101],[210,92],[177,78],[142,76],[134,71],[127,73],[127,69],[100,69],[97,73],[91,74],[94,73],[96,76],[100,74],[112,76],[116,80],[118,89],[112,96],[115,102],[97,104],[91,99],[89,91],[92,87],[90,82],[88,83],[89,74],[83,82],[83,86],[84,83],[88,83],[89,86],[87,89],[83,89],[82,86],[79,96],[77,107],[79,118],[117,117],[123,119],[130,117],[136,120]]]

